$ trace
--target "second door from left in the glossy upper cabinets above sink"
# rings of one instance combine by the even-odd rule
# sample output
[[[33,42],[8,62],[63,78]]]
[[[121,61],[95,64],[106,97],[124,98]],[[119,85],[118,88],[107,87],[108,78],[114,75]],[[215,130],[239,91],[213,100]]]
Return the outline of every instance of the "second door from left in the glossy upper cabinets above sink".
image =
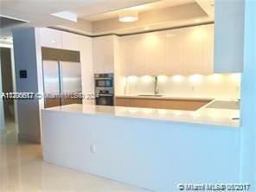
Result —
[[[145,34],[144,50],[147,59],[145,73],[149,75],[165,74],[165,33]]]

